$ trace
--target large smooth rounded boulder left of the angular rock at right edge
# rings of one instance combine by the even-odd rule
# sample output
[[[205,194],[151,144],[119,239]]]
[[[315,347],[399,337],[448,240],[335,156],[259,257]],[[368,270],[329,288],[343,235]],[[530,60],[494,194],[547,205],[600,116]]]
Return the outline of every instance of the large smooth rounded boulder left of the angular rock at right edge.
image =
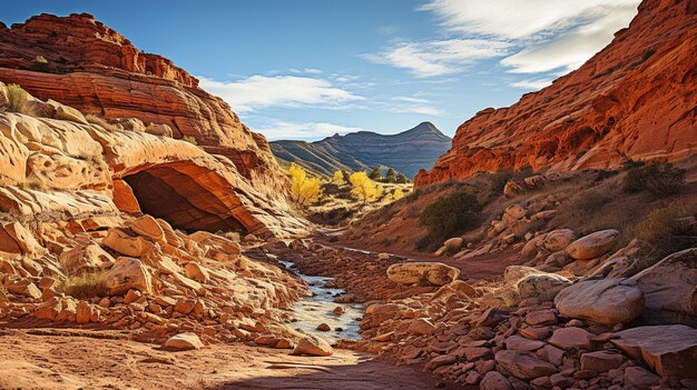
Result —
[[[615,326],[636,319],[644,311],[644,293],[627,279],[583,280],[554,298],[559,314]]]

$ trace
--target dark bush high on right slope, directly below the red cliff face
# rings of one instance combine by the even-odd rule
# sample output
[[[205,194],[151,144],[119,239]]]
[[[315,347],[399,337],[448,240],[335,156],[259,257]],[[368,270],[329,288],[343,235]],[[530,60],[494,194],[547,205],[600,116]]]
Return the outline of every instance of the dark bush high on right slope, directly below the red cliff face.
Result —
[[[685,184],[685,169],[671,163],[638,164],[629,168],[622,180],[624,192],[649,191],[655,196],[670,196]]]

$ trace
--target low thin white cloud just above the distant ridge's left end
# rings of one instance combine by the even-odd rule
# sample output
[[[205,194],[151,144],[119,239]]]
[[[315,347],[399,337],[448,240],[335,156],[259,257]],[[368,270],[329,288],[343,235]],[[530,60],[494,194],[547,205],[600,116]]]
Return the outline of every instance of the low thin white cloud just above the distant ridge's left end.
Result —
[[[274,120],[271,124],[254,129],[266,136],[268,140],[315,140],[331,137],[336,133],[364,131],[361,128],[352,128],[327,122],[286,122]]]

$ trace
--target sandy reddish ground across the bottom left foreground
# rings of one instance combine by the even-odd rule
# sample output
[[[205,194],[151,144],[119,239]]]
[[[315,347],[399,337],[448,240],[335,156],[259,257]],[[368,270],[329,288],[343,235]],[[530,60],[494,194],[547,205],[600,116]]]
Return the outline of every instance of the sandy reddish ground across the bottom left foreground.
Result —
[[[0,389],[415,390],[438,384],[421,367],[395,367],[347,350],[308,358],[236,343],[169,352],[127,338],[115,331],[0,328]]]

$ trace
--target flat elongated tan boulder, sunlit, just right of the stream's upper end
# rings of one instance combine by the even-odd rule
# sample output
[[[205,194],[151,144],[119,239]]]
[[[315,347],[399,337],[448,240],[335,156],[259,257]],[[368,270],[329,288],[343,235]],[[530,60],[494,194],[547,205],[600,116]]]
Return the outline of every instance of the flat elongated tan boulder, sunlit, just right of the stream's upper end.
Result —
[[[387,279],[408,286],[444,286],[459,276],[459,269],[440,262],[403,262],[387,268]]]

